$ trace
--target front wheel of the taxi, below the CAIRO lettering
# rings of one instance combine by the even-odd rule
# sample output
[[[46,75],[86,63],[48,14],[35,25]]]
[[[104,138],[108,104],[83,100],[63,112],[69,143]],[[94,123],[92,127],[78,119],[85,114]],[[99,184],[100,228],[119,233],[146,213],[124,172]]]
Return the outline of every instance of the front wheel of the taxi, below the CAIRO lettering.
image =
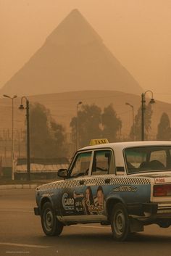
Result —
[[[41,226],[46,236],[59,236],[63,230],[63,224],[57,219],[50,202],[46,202],[41,210]]]

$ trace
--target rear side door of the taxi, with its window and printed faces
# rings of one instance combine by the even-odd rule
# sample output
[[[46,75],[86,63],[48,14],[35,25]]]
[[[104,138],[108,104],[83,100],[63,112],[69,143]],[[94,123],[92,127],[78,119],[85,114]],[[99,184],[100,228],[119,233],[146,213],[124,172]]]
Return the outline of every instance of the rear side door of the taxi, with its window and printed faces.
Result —
[[[91,176],[86,180],[83,190],[83,207],[85,215],[104,215],[104,202],[112,186],[109,174],[114,174],[114,157],[111,149],[96,149],[93,151]]]

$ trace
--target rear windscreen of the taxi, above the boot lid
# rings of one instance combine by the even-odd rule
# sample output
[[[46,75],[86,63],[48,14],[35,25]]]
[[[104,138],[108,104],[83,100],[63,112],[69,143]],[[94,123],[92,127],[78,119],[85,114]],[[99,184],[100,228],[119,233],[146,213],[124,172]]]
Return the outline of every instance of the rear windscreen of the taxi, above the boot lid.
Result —
[[[138,146],[125,149],[128,173],[171,170],[171,146]]]

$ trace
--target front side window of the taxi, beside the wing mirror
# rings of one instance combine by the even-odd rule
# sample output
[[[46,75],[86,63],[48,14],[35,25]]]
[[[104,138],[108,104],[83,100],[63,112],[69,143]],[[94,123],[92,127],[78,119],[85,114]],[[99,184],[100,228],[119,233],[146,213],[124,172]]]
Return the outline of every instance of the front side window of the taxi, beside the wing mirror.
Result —
[[[91,152],[81,152],[77,155],[72,168],[70,169],[70,177],[86,176],[90,168]]]

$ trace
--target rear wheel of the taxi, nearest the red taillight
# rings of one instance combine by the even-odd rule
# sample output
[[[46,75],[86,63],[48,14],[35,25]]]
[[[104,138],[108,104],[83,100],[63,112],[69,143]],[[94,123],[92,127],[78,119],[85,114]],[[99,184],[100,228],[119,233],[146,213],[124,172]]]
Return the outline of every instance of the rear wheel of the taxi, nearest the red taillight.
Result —
[[[114,205],[111,216],[111,228],[114,240],[125,241],[130,234],[128,212],[122,203]]]

